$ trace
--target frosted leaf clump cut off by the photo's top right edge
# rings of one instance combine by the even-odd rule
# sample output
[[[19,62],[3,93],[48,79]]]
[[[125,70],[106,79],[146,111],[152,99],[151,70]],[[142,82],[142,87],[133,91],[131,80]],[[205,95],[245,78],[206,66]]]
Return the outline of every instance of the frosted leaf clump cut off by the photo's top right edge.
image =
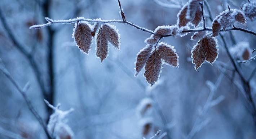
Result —
[[[246,17],[250,18],[251,21],[256,20],[256,1],[243,5],[243,12]]]

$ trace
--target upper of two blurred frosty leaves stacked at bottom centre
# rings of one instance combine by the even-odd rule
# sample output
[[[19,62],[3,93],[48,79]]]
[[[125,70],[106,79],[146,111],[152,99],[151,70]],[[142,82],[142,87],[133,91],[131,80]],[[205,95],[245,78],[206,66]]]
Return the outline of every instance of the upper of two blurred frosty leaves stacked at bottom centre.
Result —
[[[150,114],[152,112],[151,107],[153,106],[153,100],[149,97],[146,97],[140,101],[137,106],[137,114],[139,117],[144,116],[145,114]]]

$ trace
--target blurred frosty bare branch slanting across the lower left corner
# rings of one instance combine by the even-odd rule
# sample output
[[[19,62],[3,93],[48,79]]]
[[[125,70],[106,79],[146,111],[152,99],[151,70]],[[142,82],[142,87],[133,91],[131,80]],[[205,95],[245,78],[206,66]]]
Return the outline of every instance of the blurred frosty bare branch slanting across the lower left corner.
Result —
[[[52,137],[48,133],[47,127],[46,127],[43,119],[40,117],[40,115],[37,113],[35,108],[32,106],[31,101],[28,99],[26,92],[23,91],[25,89],[22,89],[19,87],[18,83],[13,79],[13,77],[10,75],[10,73],[5,68],[4,64],[1,62],[1,59],[0,59],[0,71],[4,73],[4,75],[12,82],[12,84],[17,88],[19,93],[22,95],[23,99],[26,101],[28,109],[32,112],[32,114],[36,117],[36,120],[43,127],[48,139],[52,139]],[[26,87],[24,87],[24,88],[26,88]]]

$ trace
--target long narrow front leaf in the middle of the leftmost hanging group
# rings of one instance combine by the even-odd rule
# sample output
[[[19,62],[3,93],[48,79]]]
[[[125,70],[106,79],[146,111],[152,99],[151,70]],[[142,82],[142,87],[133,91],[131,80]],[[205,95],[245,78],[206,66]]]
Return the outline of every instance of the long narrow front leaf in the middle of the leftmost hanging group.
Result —
[[[107,45],[107,38],[102,27],[100,27],[96,35],[96,56],[101,59],[101,62],[107,57],[109,53],[109,46]]]

